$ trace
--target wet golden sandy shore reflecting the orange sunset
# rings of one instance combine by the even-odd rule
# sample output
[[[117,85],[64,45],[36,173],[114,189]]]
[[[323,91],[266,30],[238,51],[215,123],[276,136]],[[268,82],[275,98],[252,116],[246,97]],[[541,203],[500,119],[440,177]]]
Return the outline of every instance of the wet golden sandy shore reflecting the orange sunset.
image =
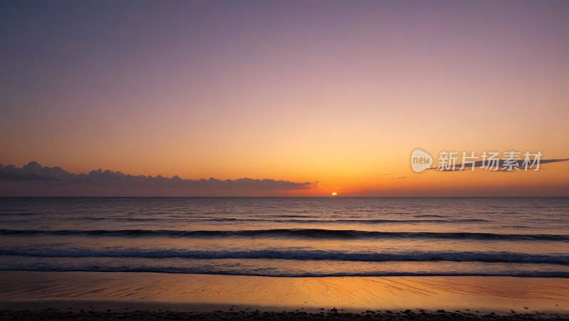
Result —
[[[0,273],[0,310],[437,310],[569,315],[569,280],[508,277],[272,278],[166,273]],[[69,309],[73,308],[73,309]],[[230,310],[233,309],[233,310]],[[321,310],[323,309],[323,310]],[[379,313],[378,315],[381,315]],[[405,314],[401,314],[404,317]]]

